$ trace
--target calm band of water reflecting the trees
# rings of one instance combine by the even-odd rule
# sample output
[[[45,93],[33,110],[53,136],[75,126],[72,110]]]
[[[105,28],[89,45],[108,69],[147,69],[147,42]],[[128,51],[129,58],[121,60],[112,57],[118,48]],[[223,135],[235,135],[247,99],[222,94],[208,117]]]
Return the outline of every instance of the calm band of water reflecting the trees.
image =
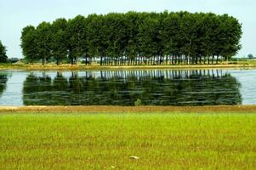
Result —
[[[0,71],[0,105],[253,105],[256,70]]]

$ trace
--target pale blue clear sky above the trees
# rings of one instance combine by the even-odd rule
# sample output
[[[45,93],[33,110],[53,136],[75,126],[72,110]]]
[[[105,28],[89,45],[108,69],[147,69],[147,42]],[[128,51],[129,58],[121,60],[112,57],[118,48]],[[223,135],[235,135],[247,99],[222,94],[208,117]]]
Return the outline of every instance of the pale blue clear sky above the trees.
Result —
[[[237,56],[256,55],[255,0],[0,0],[0,40],[9,58],[22,58],[20,36],[23,27],[37,26],[57,18],[70,19],[77,14],[107,14],[189,11],[229,14],[242,23],[242,49]]]

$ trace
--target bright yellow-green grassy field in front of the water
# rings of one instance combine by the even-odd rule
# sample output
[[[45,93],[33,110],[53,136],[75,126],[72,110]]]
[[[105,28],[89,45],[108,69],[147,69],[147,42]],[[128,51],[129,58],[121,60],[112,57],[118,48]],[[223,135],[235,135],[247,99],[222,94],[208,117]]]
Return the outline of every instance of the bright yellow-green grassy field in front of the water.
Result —
[[[253,113],[1,114],[0,169],[253,169],[255,130]]]

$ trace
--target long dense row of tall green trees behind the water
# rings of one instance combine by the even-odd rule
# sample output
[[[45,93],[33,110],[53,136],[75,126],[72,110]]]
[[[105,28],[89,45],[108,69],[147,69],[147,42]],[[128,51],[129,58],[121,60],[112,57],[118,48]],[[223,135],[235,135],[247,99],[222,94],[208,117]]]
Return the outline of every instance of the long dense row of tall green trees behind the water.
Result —
[[[228,14],[189,12],[77,15],[22,30],[26,60],[86,65],[217,64],[241,48],[242,25]]]

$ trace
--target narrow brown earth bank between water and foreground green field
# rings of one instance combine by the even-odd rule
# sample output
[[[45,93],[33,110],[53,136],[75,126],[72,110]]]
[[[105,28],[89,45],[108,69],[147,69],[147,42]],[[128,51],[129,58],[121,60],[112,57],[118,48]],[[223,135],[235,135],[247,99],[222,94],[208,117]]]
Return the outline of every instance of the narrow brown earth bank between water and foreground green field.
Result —
[[[113,105],[89,105],[89,106],[0,106],[2,112],[68,112],[68,113],[251,113],[256,111],[256,105],[211,105],[211,106],[113,106]]]

